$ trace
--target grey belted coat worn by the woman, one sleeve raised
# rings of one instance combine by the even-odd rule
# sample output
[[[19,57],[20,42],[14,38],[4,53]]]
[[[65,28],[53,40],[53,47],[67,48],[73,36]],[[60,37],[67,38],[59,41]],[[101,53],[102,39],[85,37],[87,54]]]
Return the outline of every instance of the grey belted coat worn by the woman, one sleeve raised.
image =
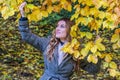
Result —
[[[46,56],[46,48],[50,41],[49,37],[39,37],[31,33],[27,19],[19,20],[19,31],[22,39],[40,50],[44,57],[44,74],[40,80],[70,80],[73,74],[75,62],[71,55],[66,55],[63,62],[58,65],[58,45],[55,47],[52,61],[48,61]]]

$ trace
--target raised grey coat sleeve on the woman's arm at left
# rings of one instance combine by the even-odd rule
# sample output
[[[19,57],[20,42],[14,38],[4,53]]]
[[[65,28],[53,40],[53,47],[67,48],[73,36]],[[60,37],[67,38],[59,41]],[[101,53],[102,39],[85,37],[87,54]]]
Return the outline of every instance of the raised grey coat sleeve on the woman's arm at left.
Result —
[[[19,19],[19,31],[23,41],[44,52],[50,39],[33,34],[29,29],[29,22],[27,18],[23,17]]]

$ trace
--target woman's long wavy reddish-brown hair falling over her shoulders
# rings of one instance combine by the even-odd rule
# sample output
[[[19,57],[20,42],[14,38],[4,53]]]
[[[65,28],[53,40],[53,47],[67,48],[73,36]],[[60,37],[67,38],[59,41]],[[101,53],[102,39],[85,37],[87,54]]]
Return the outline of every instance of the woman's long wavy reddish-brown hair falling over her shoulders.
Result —
[[[67,41],[71,41],[70,30],[71,30],[71,27],[74,25],[74,22],[70,21],[70,19],[68,19],[68,18],[62,18],[59,21],[65,21],[66,27],[68,29]],[[49,45],[47,47],[47,58],[49,61],[51,61],[51,59],[53,58],[53,51],[55,49],[55,46],[59,42],[60,42],[60,39],[56,38],[55,30],[53,30],[51,40],[50,40]]]

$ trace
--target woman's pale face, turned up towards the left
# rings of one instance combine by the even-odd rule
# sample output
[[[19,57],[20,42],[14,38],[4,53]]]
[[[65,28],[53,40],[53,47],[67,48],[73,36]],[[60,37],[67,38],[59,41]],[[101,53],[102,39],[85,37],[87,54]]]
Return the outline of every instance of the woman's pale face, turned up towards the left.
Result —
[[[66,26],[66,22],[61,20],[58,22],[57,27],[56,27],[56,38],[59,38],[61,41],[65,41],[67,38],[67,26]]]

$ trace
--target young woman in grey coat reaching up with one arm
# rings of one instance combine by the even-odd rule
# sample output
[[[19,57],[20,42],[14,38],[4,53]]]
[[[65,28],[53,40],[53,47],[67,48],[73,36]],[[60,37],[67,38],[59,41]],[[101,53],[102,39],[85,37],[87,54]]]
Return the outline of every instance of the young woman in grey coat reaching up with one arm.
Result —
[[[25,5],[26,2],[23,2],[19,6],[21,13],[19,31],[25,42],[43,53],[45,70],[40,80],[70,80],[75,61],[71,55],[62,52],[61,48],[71,40],[69,33],[73,22],[69,19],[61,19],[51,37],[38,37],[29,30],[28,19],[25,17],[23,9]]]

